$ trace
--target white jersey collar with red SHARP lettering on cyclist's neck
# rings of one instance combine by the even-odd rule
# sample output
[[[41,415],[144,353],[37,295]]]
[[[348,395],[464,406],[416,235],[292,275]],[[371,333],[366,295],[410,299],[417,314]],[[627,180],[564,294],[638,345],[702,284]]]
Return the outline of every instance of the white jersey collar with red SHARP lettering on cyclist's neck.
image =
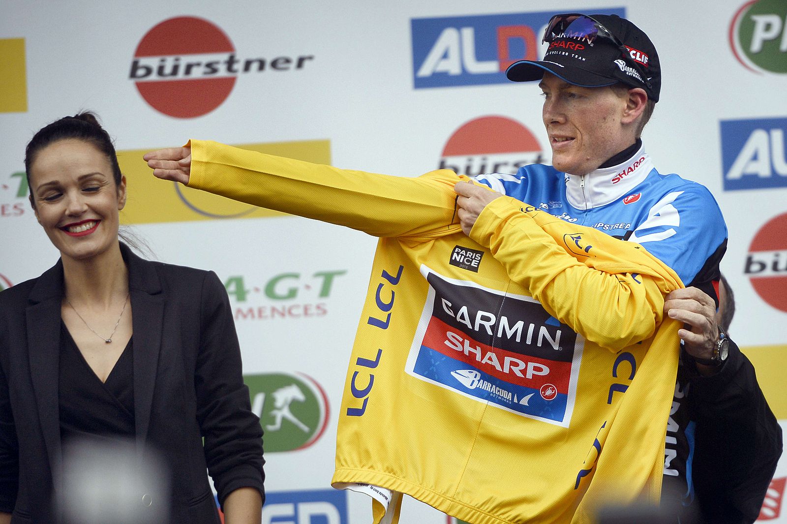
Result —
[[[633,157],[611,168],[598,168],[587,175],[566,173],[566,198],[577,209],[593,209],[610,204],[630,193],[653,169],[645,146]]]

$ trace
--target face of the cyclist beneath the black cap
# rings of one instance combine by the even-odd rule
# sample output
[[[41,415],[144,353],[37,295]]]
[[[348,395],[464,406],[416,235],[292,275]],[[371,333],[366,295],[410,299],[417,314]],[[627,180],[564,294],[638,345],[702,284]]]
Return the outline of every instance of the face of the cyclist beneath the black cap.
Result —
[[[633,144],[621,118],[623,98],[610,87],[578,87],[545,73],[542,117],[552,147],[552,165],[586,175]]]

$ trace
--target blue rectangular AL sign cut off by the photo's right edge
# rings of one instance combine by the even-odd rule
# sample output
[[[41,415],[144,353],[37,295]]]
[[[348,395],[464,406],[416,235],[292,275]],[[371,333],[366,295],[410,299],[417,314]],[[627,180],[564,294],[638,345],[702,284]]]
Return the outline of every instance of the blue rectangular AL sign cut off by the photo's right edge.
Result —
[[[787,118],[722,120],[724,190],[787,187]]]

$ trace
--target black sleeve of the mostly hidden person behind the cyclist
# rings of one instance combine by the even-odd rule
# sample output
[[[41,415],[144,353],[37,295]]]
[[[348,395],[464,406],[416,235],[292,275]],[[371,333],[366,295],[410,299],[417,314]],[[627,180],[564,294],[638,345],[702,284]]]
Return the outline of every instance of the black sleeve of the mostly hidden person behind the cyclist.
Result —
[[[704,519],[754,522],[781,456],[781,426],[754,367],[730,341],[730,356],[719,373],[693,376],[689,385],[689,410],[696,420],[693,482]]]

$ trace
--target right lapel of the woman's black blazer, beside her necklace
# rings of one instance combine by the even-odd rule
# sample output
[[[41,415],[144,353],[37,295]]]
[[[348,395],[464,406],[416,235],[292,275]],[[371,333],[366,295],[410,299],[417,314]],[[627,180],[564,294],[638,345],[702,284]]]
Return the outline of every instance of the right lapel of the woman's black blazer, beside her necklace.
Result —
[[[123,244],[120,247],[128,267],[134,316],[134,418],[137,446],[141,451],[150,426],[164,324],[164,296],[155,268],[157,263],[142,260]]]

